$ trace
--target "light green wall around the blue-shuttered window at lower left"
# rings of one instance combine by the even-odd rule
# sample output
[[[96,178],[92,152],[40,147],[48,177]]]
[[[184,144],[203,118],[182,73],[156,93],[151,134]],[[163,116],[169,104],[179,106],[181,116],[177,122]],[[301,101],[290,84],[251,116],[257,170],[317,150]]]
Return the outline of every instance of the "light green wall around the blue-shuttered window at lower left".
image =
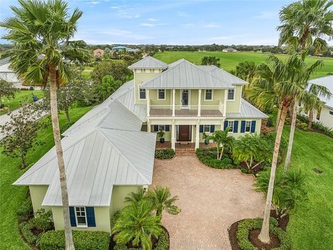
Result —
[[[105,231],[110,233],[111,226],[110,226],[110,207],[94,207],[95,212],[95,222],[96,226],[89,226],[86,228],[72,226],[71,229],[73,230],[80,230],[80,231]],[[52,215],[53,215],[53,222],[54,228],[56,230],[63,230],[64,229],[64,218],[62,216],[62,206],[53,206],[52,207]]]

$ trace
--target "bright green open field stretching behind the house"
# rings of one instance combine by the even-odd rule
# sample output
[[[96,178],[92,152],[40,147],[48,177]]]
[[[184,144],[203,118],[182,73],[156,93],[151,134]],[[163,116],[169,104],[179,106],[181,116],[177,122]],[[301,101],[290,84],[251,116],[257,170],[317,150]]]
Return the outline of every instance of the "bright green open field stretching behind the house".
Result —
[[[220,58],[221,68],[230,71],[235,69],[236,65],[246,60],[253,61],[255,63],[263,63],[266,60],[268,54],[266,53],[254,53],[254,52],[237,52],[237,53],[225,53],[219,51],[205,51],[205,52],[189,52],[189,51],[164,51],[155,53],[155,58],[162,60],[165,63],[173,63],[176,60],[184,58],[196,65],[201,64],[201,59],[204,56],[216,56]],[[278,55],[280,58],[284,58],[285,55]],[[321,58],[324,61],[323,67],[312,78],[318,78],[326,76],[327,73],[333,74],[333,58]],[[314,63],[318,58],[307,58],[308,63]]]

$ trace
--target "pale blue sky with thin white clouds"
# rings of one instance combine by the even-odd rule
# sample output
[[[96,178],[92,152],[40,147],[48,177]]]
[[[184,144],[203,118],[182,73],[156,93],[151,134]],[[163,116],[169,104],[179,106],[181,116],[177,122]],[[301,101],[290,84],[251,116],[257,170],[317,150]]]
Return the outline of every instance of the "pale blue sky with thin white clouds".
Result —
[[[76,40],[88,44],[276,45],[278,13],[289,0],[69,0],[83,10]],[[17,1],[0,0],[0,19]],[[6,33],[0,29],[0,36]],[[0,39],[0,43],[7,43]],[[330,42],[332,44],[332,41]]]

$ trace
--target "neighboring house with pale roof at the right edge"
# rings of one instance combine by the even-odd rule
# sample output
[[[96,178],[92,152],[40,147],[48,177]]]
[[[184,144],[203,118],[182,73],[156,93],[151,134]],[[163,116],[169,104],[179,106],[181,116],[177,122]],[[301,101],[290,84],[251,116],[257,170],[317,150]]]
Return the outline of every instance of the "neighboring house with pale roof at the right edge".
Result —
[[[325,86],[331,93],[333,93],[333,76],[312,79],[309,83]],[[324,126],[333,129],[333,97],[330,99],[321,97],[321,101],[325,102],[325,105],[320,113],[318,113],[317,110],[314,110],[314,122],[321,122]]]

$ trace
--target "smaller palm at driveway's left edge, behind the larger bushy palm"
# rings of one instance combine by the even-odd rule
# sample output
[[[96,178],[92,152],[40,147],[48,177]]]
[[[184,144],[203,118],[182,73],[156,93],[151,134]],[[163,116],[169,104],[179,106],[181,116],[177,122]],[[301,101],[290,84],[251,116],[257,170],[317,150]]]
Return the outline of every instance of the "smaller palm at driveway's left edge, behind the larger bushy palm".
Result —
[[[173,205],[178,200],[178,196],[171,197],[169,188],[156,186],[153,191],[148,191],[148,199],[153,203],[156,210],[156,216],[162,217],[162,211],[165,210],[170,215],[178,215],[180,208]]]

